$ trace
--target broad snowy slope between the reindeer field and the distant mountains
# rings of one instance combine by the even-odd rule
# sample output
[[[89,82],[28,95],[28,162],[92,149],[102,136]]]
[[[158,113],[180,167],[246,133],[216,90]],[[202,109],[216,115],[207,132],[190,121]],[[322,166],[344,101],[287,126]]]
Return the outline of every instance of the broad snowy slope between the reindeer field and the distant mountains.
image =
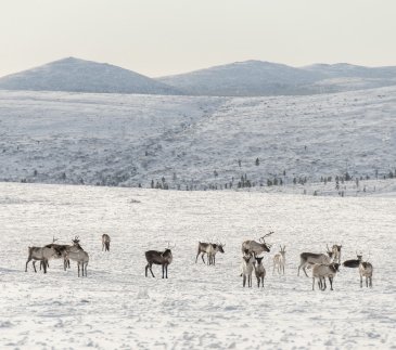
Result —
[[[346,172],[395,172],[395,116],[396,88],[277,98],[2,91],[0,180],[149,187],[164,178],[203,190],[234,189],[245,174],[256,186],[332,177],[334,189]]]

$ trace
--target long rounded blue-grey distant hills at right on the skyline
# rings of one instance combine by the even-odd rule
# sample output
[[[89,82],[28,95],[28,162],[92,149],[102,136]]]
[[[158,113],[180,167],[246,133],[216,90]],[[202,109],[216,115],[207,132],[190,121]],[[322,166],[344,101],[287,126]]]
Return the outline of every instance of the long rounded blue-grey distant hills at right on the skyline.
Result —
[[[158,78],[193,95],[301,95],[396,85],[396,67],[316,64],[291,67],[246,61]]]

